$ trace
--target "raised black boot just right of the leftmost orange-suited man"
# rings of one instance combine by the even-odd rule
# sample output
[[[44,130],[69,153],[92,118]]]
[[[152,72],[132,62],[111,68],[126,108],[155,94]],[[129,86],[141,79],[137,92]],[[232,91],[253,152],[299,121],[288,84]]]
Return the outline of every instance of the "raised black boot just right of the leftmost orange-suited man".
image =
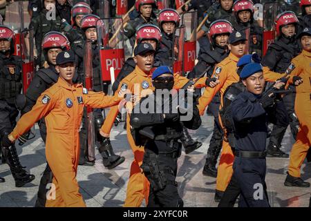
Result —
[[[109,137],[103,137],[102,141],[99,142],[100,154],[102,155],[102,162],[108,169],[113,169],[115,166],[122,164],[125,158],[120,155],[115,155]]]

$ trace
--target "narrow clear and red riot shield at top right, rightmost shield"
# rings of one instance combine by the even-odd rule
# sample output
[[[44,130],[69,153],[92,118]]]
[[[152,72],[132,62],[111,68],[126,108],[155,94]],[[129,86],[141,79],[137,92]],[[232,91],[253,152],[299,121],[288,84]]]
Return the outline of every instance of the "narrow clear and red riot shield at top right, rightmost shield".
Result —
[[[275,30],[274,21],[277,15],[278,6],[276,2],[269,2],[263,5],[263,56],[267,48],[274,42]]]

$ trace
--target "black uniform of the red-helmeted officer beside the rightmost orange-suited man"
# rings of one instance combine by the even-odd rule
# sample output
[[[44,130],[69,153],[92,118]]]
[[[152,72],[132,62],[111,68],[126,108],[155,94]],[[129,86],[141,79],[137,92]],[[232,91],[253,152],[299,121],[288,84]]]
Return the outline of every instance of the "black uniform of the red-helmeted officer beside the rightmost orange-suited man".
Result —
[[[265,57],[263,57],[263,66],[267,66],[270,70],[277,73],[290,73],[294,68],[291,65],[291,61],[294,57],[299,55],[300,48],[297,44],[296,37],[285,37],[281,35],[278,40],[270,44]],[[281,78],[281,75],[280,75]],[[294,86],[290,86],[290,90],[295,91]],[[283,97],[283,102],[288,109],[288,115],[290,117],[290,128],[294,137],[298,132],[299,122],[294,114],[294,100],[295,93],[290,93]],[[283,153],[280,150],[281,142],[283,140],[287,126],[274,125],[272,133],[270,135],[270,143],[267,147],[267,156],[272,157],[288,157],[288,154]]]

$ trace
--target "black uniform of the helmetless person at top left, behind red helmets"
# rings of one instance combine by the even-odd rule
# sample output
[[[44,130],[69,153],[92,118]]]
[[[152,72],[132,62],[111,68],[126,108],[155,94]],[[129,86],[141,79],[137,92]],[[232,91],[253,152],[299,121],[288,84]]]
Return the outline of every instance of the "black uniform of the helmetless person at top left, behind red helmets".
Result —
[[[48,11],[46,9],[41,10],[37,17],[32,17],[29,28],[33,28],[33,35],[35,36],[35,46],[37,49],[37,65],[40,67],[44,64],[44,56],[41,50],[41,43],[44,39],[44,35],[50,31],[58,31],[62,30],[62,21],[61,18],[57,15],[55,19],[51,19],[48,21],[46,19]]]

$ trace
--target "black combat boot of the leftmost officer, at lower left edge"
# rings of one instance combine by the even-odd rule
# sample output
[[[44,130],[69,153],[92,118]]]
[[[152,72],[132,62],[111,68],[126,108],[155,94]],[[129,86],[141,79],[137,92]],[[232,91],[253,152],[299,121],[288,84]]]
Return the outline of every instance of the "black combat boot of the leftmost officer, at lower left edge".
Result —
[[[16,187],[21,187],[35,179],[35,175],[28,173],[24,170],[26,167],[21,166],[15,145],[10,146],[9,148],[3,148],[3,152],[3,156],[6,156],[6,162],[10,166]]]

